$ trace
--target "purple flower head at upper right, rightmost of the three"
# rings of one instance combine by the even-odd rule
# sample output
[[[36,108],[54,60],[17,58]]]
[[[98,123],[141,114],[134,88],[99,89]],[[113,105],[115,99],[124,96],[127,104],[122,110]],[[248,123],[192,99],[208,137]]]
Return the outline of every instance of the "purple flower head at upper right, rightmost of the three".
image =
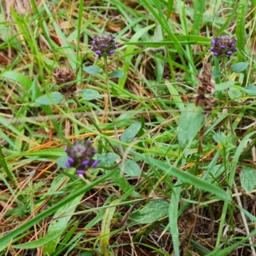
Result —
[[[233,52],[236,52],[236,41],[235,36],[231,38],[228,35],[216,36],[211,40],[212,47],[210,47],[210,51],[213,52],[214,56],[230,56]]]

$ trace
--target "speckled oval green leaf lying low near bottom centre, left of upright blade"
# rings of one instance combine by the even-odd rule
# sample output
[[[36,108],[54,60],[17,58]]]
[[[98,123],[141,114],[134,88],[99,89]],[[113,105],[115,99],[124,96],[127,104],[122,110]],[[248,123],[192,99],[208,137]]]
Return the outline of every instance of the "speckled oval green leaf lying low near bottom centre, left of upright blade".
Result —
[[[170,203],[163,199],[156,199],[147,204],[143,209],[134,211],[130,214],[130,218],[136,223],[151,223],[160,220],[168,215]]]

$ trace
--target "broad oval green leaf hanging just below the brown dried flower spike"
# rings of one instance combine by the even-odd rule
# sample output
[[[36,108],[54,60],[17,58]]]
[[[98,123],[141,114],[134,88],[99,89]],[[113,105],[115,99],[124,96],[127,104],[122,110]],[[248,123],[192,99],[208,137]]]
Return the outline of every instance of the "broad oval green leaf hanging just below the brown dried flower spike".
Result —
[[[178,141],[181,148],[188,145],[189,140],[193,139],[204,122],[204,109],[195,104],[189,104],[182,111],[177,128]]]

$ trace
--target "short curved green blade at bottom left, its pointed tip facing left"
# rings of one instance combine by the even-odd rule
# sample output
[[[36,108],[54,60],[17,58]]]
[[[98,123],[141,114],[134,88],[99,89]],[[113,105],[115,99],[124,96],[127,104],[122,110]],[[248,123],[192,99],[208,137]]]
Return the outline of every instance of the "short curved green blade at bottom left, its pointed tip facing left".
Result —
[[[36,241],[24,243],[24,244],[19,244],[19,245],[13,245],[14,248],[17,249],[33,249],[33,248],[38,248],[41,246],[44,246],[44,244],[51,243],[52,240],[56,239],[56,237],[61,236],[61,233],[63,232],[63,229],[61,230],[54,230],[51,232],[51,234],[47,234],[44,237],[41,237],[37,239]]]

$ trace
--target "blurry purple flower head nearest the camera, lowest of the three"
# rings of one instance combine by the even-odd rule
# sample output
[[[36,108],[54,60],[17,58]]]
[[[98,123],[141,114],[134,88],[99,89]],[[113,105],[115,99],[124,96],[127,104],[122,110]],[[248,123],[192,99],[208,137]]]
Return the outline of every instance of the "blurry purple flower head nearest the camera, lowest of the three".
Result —
[[[66,162],[67,168],[76,168],[77,174],[84,175],[88,168],[95,168],[99,163],[93,159],[97,153],[96,148],[92,147],[92,141],[76,141],[74,145],[67,146],[68,161]]]

